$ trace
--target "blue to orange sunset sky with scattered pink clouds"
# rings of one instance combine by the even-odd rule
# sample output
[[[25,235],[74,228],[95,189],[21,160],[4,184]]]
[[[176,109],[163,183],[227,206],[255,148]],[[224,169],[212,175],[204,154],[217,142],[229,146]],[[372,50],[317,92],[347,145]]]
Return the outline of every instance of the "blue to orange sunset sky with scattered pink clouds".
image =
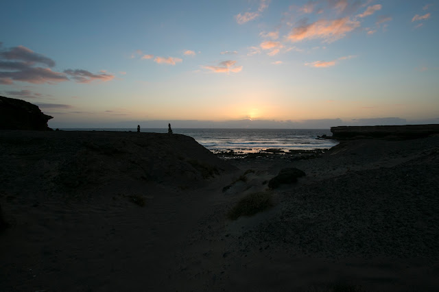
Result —
[[[439,2],[4,1],[0,95],[50,127],[439,123]]]

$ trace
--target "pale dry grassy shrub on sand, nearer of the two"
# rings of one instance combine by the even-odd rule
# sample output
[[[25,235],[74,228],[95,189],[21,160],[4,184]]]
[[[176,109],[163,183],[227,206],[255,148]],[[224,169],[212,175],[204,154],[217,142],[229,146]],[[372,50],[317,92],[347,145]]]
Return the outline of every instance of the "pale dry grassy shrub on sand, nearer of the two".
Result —
[[[227,217],[232,220],[240,216],[252,216],[273,206],[272,194],[268,192],[251,193],[243,197],[228,211]]]

